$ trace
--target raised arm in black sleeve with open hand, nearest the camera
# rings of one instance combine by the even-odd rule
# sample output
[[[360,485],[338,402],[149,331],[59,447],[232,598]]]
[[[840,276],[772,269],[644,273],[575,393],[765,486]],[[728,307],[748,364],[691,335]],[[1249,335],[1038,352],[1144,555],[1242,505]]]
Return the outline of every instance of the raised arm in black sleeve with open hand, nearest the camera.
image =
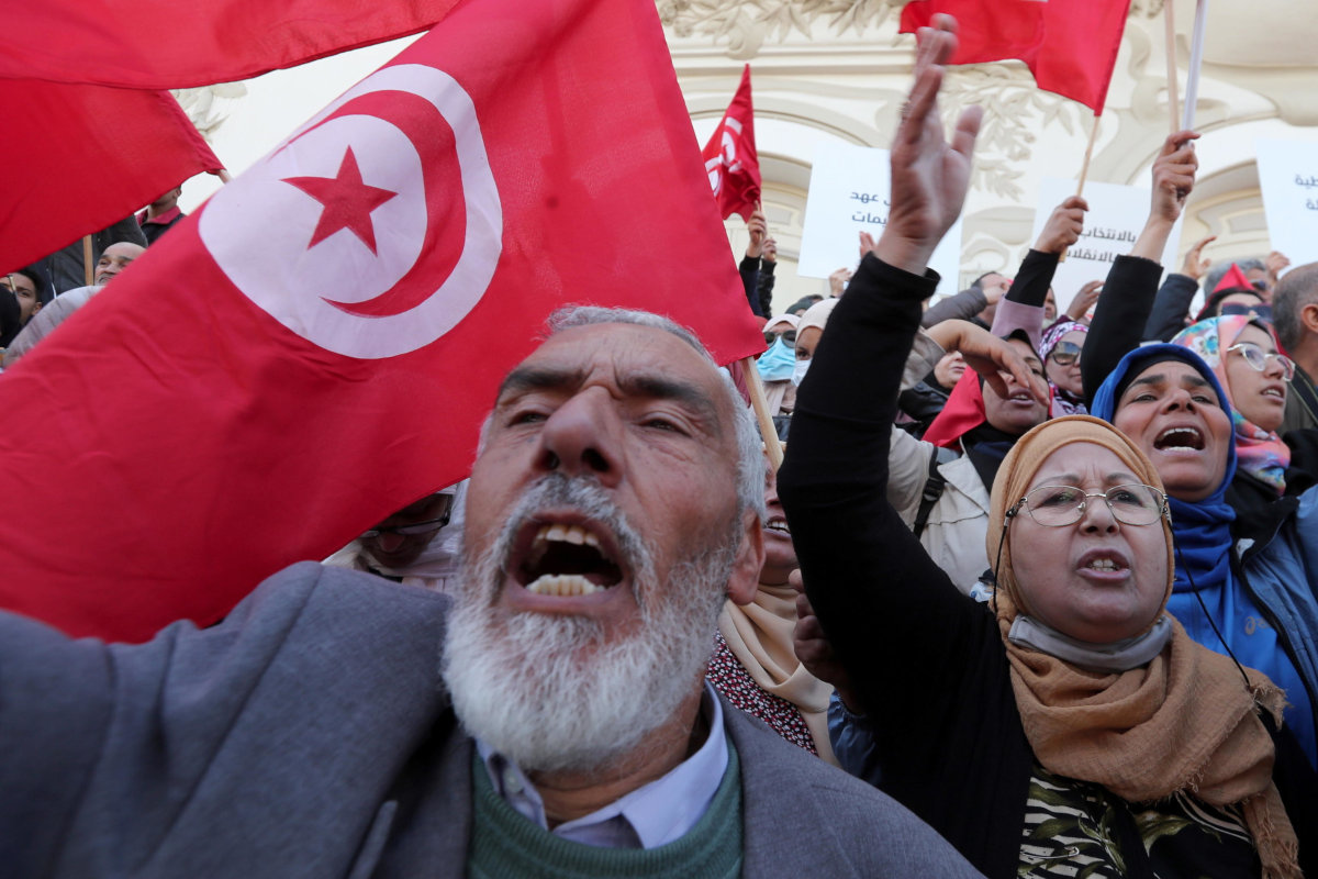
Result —
[[[902,364],[937,282],[925,265],[961,210],[979,123],[975,108],[944,140],[936,95],[953,47],[945,30],[921,33],[892,148],[888,224],[829,318],[779,474],[807,594],[862,705],[945,692],[945,676],[966,673],[969,654],[958,660],[986,619],[884,497]]]

